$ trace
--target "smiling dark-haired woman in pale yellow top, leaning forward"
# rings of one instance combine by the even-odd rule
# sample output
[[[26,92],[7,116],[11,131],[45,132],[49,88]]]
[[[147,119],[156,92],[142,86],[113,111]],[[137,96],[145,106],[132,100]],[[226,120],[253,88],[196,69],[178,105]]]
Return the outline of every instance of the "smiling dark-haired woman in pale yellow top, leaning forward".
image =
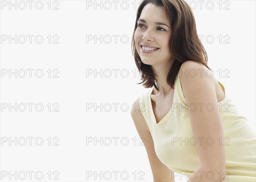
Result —
[[[256,137],[224,86],[210,77],[192,10],[184,0],[143,0],[133,56],[148,89],[131,117],[154,181],[256,181]]]

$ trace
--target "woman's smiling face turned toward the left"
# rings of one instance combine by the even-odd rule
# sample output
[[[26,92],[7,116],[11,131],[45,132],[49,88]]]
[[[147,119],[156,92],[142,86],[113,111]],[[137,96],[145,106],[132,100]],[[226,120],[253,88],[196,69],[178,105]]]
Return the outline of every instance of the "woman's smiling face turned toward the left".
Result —
[[[147,4],[137,23],[134,40],[142,62],[147,65],[169,62],[172,57],[169,50],[171,26],[163,7]]]

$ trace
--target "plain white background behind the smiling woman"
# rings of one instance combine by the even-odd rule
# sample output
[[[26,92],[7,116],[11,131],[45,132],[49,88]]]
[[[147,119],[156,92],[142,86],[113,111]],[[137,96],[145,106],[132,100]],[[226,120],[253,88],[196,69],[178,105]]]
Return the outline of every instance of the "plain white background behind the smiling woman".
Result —
[[[24,44],[19,41],[15,44],[15,40],[9,43],[1,37],[1,73],[9,69],[12,72],[25,69],[27,75],[24,78],[17,75],[16,78],[15,74],[9,77],[8,73],[0,78],[1,141],[9,140],[9,137],[20,139],[17,146],[15,142],[9,146],[9,141],[0,146],[0,171],[8,172],[6,177],[1,175],[2,181],[20,181],[19,178],[15,180],[15,176],[10,180],[9,171],[12,174],[15,171],[34,171],[31,180],[26,173],[23,181],[153,181],[145,147],[139,144],[141,140],[130,116],[133,102],[146,91],[142,85],[136,84],[140,78],[131,54],[131,37],[140,1],[126,1],[122,6],[122,1],[118,1],[115,9],[113,1],[58,0],[50,2],[50,10],[48,1],[42,1],[44,7],[41,10],[36,9],[37,1],[32,3],[31,10],[27,1],[24,1],[27,6],[24,10],[21,10],[24,4],[19,4],[20,1],[16,1],[17,10],[15,6],[10,10],[9,1],[6,2],[8,5],[3,6],[1,1],[1,36],[11,35],[14,38],[15,35],[24,35],[27,40]],[[11,2],[15,4],[15,1]],[[215,71],[215,78],[224,85],[239,113],[255,128],[255,1],[212,1],[212,10],[211,4],[206,6],[208,1],[202,8],[198,1],[187,2],[193,8],[198,35],[204,36],[202,43],[208,54],[209,67]],[[95,3],[102,4],[102,7],[95,7]],[[93,6],[87,6],[90,4]],[[109,5],[112,6],[110,9]],[[59,10],[53,10],[54,6]],[[37,8],[40,7],[38,3]],[[31,44],[27,35],[34,36]],[[37,35],[44,37],[43,43],[35,42]],[[59,37],[58,44],[52,43],[56,40],[54,35]],[[116,43],[113,35],[118,36]],[[96,36],[99,40],[95,43],[94,39],[88,40],[88,36]],[[207,36],[214,37],[213,43],[207,43]],[[225,40],[229,44],[224,43]],[[20,41],[23,42],[22,37]],[[34,69],[31,78],[27,69]],[[43,70],[43,77],[35,76],[37,69]],[[59,71],[56,75],[59,78],[53,78],[57,73],[54,69]],[[93,72],[102,69],[102,76],[87,75],[91,69]],[[114,69],[117,69],[116,77]],[[220,69],[222,74],[227,73],[224,69],[228,69],[229,78],[220,77],[217,72]],[[112,76],[108,78],[110,73]],[[20,71],[20,75],[23,74]],[[3,108],[3,103],[34,105],[31,112],[27,104],[26,111],[15,112],[15,108],[11,111],[9,107]],[[35,110],[37,103],[44,105],[43,111]],[[105,108],[102,111],[96,108],[95,112],[94,107],[87,108],[88,103],[96,103],[97,106],[102,103]],[[117,105],[116,111],[113,103]],[[112,109],[108,112],[109,105]],[[59,112],[53,112],[54,108]],[[22,137],[27,142],[24,146],[20,145],[24,142]],[[31,146],[27,137],[34,137]],[[35,143],[37,137],[44,141],[41,146],[38,146],[40,140]],[[99,140],[100,137],[102,145],[100,142],[95,145],[94,141],[87,144],[87,139]],[[107,146],[110,141],[107,137],[111,139],[110,146]],[[116,145],[113,137],[117,138]],[[53,146],[53,142],[58,146]],[[43,179],[35,178],[37,171],[42,171]],[[92,171],[93,176],[86,179],[86,171]],[[101,171],[102,175],[95,175]],[[109,176],[106,171],[111,171],[109,180],[106,179]],[[119,171],[116,180],[112,171]],[[122,179],[120,173],[124,178],[128,173],[128,179]],[[58,180],[53,180],[54,176]],[[183,180],[176,177],[176,181]]]

